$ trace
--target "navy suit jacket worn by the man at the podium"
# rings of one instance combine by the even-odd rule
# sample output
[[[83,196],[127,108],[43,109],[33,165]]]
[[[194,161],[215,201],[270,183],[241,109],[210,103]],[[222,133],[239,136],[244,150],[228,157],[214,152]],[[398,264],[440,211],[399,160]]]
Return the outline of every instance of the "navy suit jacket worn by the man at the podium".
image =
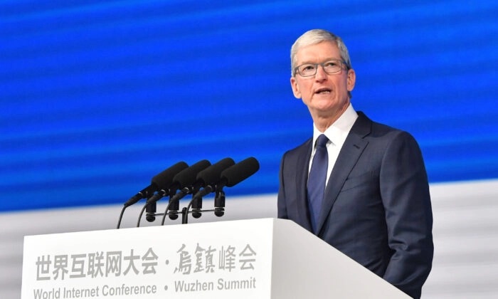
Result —
[[[407,132],[358,115],[332,169],[314,234],[420,298],[434,249],[420,148]],[[278,217],[310,232],[306,184],[311,152],[309,139],[284,154],[278,192]]]

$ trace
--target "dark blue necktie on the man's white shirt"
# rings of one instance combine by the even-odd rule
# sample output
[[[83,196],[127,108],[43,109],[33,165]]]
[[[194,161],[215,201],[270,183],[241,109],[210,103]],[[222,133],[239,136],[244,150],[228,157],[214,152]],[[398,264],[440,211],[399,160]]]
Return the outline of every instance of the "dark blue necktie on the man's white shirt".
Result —
[[[327,142],[329,138],[319,135],[317,139],[317,151],[314,153],[312,168],[308,177],[308,204],[311,214],[313,231],[317,231],[317,222],[322,208],[322,201],[327,183],[327,167],[329,166],[329,154],[327,154]]]

